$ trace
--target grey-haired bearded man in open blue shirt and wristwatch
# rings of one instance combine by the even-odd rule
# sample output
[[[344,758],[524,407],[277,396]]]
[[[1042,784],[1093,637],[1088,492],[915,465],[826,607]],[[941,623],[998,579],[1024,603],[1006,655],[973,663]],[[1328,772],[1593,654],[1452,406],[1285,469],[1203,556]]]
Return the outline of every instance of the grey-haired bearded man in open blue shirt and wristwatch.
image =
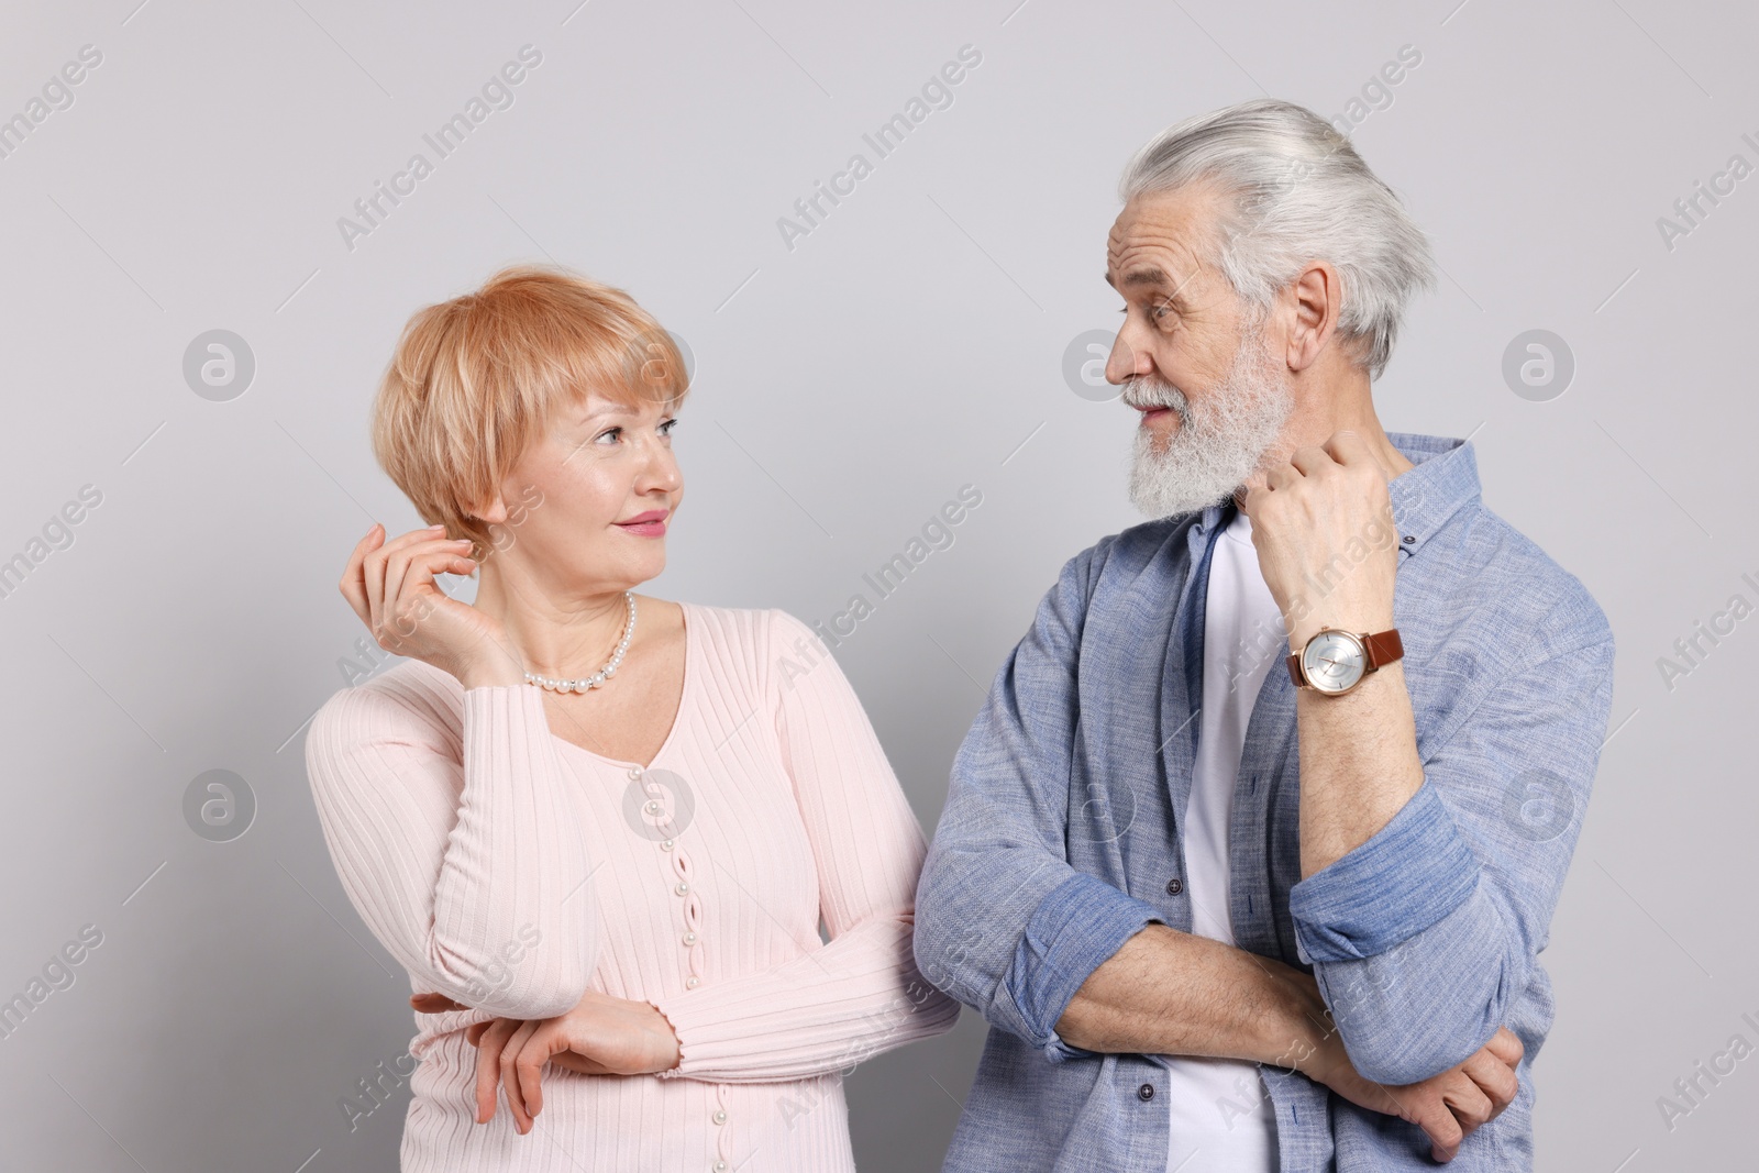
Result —
[[[1347,139],[1245,102],[1120,195],[1152,521],[1062,566],[953,763],[916,958],[990,1032],[945,1168],[1530,1168],[1606,617],[1469,441],[1381,427],[1434,276]]]

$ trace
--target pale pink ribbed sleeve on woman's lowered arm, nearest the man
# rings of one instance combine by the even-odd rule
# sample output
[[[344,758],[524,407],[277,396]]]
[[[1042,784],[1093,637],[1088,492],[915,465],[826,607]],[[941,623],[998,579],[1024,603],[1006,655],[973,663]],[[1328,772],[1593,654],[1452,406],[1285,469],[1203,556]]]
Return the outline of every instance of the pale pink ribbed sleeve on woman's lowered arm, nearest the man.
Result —
[[[654,999],[681,1050],[661,1078],[821,1075],[943,1034],[959,1018],[959,1002],[916,971],[911,948],[922,827],[837,661],[788,612],[767,616],[763,695],[813,846],[830,943]],[[800,670],[788,649],[804,645],[820,658]]]

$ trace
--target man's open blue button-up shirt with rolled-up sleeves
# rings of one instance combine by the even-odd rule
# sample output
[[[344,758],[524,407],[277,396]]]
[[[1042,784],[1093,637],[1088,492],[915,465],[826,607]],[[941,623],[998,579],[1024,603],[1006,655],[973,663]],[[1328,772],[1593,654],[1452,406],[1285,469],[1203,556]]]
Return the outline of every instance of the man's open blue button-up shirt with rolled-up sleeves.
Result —
[[[1574,575],[1485,508],[1471,443],[1390,438],[1414,463],[1390,489],[1423,784],[1302,879],[1295,686],[1274,665],[1235,783],[1233,932],[1314,973],[1370,1080],[1428,1078],[1499,1025],[1514,1031],[1520,1094],[1451,1168],[1525,1169],[1530,1064],[1553,1015],[1539,951],[1606,735],[1613,635]],[[1133,526],[1071,557],[959,749],[915,932],[922,973],[990,1024],[948,1171],[1166,1169],[1166,1101],[1145,1090],[1164,1067],[1071,1046],[1055,1024],[1143,925],[1191,930],[1180,878],[1203,603],[1233,508]],[[1416,1126],[1296,1071],[1261,1073],[1282,1173],[1435,1168]]]

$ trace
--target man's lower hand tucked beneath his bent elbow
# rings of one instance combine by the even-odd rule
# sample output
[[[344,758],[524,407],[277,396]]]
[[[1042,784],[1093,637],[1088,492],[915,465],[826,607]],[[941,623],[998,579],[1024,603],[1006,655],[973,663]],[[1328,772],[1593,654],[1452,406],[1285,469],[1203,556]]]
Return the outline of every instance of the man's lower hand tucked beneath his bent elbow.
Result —
[[[1520,1090],[1514,1067],[1523,1053],[1520,1038],[1507,1027],[1497,1027],[1490,1041],[1458,1067],[1421,1083],[1386,1087],[1356,1075],[1333,1034],[1302,1071],[1353,1104],[1416,1124],[1430,1138],[1430,1155],[1446,1162],[1460,1152],[1462,1140],[1514,1103]]]

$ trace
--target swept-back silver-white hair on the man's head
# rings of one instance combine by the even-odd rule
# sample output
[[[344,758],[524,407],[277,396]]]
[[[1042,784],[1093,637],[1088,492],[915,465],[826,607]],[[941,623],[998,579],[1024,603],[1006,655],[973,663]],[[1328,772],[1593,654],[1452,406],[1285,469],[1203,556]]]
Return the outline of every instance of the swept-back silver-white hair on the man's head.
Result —
[[[1435,285],[1435,262],[1349,139],[1303,106],[1252,98],[1157,134],[1124,169],[1119,199],[1189,183],[1228,197],[1212,259],[1245,302],[1268,308],[1312,260],[1337,269],[1337,332],[1379,378],[1411,294]]]

